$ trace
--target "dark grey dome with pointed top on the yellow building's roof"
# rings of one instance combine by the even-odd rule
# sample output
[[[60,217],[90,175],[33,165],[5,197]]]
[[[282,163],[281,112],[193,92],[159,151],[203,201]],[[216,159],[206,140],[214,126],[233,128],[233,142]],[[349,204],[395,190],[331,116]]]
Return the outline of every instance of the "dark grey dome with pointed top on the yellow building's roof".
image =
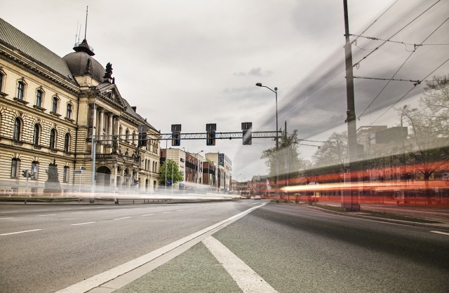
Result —
[[[81,44],[74,47],[76,52],[69,53],[62,57],[62,59],[67,63],[70,71],[74,76],[82,76],[86,74],[91,74],[91,76],[99,81],[104,82],[105,79],[105,67],[97,60],[93,59],[93,50],[88,46],[87,41],[83,40]]]

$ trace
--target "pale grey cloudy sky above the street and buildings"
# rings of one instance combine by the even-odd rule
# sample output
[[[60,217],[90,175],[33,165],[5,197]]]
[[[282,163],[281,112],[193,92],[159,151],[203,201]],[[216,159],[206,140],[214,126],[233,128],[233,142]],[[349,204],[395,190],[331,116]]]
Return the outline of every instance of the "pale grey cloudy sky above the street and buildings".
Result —
[[[86,6],[95,59],[112,63],[121,95],[163,133],[171,124],[204,132],[206,123],[236,132],[248,121],[253,131],[274,130],[275,95],[255,83],[278,88],[279,126],[287,121],[304,144],[347,127],[342,0],[0,1],[1,18],[61,57],[84,37]],[[447,0],[348,0],[348,7],[350,33],[379,39],[353,43],[354,76],[423,80],[449,73]],[[397,125],[394,107],[413,104],[424,88],[387,83],[355,80],[357,127]],[[260,155],[274,142],[226,139],[206,147],[189,140],[181,147],[225,153],[241,181],[267,173]],[[300,147],[304,159],[315,151]]]

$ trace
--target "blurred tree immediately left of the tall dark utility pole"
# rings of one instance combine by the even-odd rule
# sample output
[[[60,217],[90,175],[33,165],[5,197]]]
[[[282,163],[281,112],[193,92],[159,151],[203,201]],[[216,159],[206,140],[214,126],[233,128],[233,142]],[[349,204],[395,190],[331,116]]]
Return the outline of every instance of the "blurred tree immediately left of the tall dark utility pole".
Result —
[[[321,179],[343,182],[342,170],[344,159],[347,158],[347,132],[333,132],[312,157]],[[319,171],[318,171],[319,170]]]

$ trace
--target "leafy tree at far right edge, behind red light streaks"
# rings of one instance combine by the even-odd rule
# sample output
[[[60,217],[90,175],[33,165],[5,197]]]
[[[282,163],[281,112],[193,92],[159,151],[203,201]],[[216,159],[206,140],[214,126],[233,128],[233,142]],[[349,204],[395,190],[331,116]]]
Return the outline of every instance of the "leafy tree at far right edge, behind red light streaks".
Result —
[[[449,159],[449,80],[434,76],[427,82],[419,100],[420,110],[405,105],[400,111],[411,131],[403,163],[412,165],[424,177],[427,203],[431,204],[429,179],[434,172],[448,168]]]

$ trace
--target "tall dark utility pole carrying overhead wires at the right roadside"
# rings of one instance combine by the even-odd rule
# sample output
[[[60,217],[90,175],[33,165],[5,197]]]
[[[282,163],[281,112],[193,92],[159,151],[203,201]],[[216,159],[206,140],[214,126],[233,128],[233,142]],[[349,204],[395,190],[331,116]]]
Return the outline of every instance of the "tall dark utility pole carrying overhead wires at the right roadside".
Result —
[[[344,8],[344,55],[346,59],[346,93],[347,93],[347,126],[348,126],[348,156],[349,156],[349,185],[354,186],[358,181],[356,172],[357,161],[357,128],[356,128],[356,109],[354,102],[354,75],[352,72],[352,52],[351,41],[349,40],[349,20],[348,20],[348,4],[347,0],[343,0]],[[347,197],[348,196],[348,197]],[[342,207],[345,210],[360,210],[358,203],[358,191],[351,188],[343,196]]]

